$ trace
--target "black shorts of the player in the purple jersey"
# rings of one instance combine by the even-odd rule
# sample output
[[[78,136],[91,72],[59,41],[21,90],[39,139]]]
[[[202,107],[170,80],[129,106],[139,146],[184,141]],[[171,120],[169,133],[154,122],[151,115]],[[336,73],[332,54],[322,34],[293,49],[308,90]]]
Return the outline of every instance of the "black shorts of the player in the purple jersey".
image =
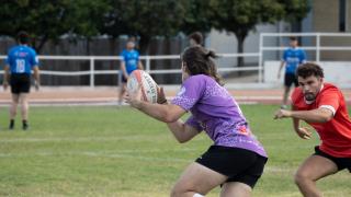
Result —
[[[228,176],[226,182],[240,182],[253,188],[267,160],[246,149],[212,146],[196,162]]]

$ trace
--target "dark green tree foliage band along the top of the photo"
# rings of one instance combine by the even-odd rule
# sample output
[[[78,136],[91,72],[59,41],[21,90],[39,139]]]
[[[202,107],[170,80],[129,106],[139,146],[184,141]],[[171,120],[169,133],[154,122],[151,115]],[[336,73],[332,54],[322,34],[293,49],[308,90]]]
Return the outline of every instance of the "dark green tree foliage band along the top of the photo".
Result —
[[[152,37],[215,27],[234,33],[242,53],[244,40],[257,24],[298,22],[308,11],[305,0],[4,0],[0,35],[14,37],[27,31],[37,50],[63,35],[135,35],[145,53]]]

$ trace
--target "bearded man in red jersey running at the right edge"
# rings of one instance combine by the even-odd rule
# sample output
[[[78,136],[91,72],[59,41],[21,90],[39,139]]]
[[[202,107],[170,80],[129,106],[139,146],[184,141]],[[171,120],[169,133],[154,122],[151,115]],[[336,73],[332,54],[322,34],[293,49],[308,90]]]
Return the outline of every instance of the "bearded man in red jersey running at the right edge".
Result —
[[[302,139],[309,139],[307,128],[299,120],[313,126],[321,143],[295,174],[295,183],[304,196],[322,196],[316,187],[320,178],[343,169],[351,172],[351,120],[341,91],[324,82],[324,71],[315,63],[297,68],[299,86],[292,94],[293,111],[279,109],[274,118],[293,118],[293,128]]]

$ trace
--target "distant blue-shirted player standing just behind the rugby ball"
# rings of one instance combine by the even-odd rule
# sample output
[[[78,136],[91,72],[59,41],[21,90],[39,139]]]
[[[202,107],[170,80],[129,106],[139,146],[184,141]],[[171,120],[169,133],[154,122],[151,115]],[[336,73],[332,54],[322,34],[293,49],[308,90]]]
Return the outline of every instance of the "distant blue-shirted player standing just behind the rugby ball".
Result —
[[[126,49],[120,55],[122,57],[121,60],[121,72],[122,72],[122,84],[118,96],[118,104],[122,104],[123,95],[126,89],[126,82],[128,80],[129,74],[136,69],[144,69],[143,63],[139,59],[139,53],[135,49],[135,37],[131,37],[127,40]]]

